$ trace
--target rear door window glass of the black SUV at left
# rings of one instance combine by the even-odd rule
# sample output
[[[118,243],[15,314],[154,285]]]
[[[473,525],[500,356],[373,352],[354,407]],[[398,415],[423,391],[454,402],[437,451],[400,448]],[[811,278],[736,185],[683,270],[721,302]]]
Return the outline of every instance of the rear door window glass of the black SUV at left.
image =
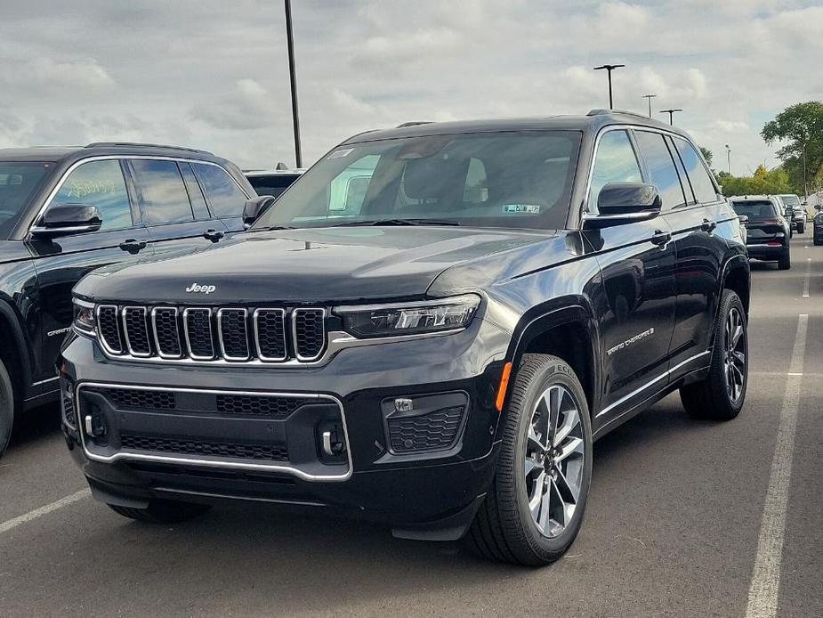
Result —
[[[134,183],[143,221],[148,225],[192,221],[189,193],[174,161],[135,159]]]

